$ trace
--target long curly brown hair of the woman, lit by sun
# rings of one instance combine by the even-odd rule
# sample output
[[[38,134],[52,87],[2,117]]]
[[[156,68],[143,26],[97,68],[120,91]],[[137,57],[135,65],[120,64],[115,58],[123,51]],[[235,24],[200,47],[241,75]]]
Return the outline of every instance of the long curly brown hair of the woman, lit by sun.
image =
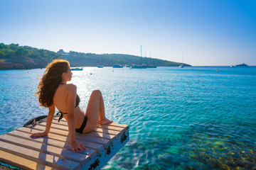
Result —
[[[38,92],[36,92],[41,106],[48,108],[53,105],[55,91],[63,81],[63,72],[68,72],[69,66],[70,63],[62,59],[53,60],[46,66],[46,71],[38,84]]]

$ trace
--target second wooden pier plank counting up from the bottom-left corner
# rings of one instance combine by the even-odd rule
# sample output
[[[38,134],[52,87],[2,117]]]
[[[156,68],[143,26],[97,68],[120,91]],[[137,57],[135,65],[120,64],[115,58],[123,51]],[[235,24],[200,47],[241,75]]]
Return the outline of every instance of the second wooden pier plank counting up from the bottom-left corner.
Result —
[[[80,164],[78,162],[72,162],[67,159],[41,153],[32,149],[27,149],[25,147],[16,146],[3,141],[0,141],[0,150],[15,154],[19,157],[31,159],[32,161],[38,162],[40,164],[52,166],[55,169],[80,169]]]

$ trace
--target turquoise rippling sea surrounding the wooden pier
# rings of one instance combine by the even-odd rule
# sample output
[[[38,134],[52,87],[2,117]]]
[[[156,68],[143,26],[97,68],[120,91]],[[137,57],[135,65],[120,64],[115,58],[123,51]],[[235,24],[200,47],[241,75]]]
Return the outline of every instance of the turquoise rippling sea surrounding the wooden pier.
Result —
[[[47,114],[43,71],[0,71],[0,135]],[[130,127],[103,169],[256,169],[256,67],[84,67],[71,83],[81,108],[100,89],[107,117]]]

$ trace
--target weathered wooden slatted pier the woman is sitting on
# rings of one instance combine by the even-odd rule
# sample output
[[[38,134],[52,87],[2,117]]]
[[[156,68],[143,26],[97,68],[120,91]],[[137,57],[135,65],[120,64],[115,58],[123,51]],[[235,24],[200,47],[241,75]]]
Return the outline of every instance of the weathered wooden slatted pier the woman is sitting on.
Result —
[[[45,129],[43,121],[33,128],[18,128],[0,135],[0,162],[19,169],[100,169],[129,141],[128,125],[97,125],[90,133],[75,134],[87,150],[74,153],[65,120],[58,123],[58,118],[53,118],[47,136],[29,137]]]

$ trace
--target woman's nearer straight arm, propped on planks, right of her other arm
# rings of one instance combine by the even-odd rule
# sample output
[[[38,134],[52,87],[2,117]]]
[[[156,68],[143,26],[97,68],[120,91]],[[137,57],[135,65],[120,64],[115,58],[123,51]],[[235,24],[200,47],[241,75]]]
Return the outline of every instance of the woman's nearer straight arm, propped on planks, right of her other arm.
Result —
[[[79,149],[84,152],[85,146],[82,144],[78,144],[75,141],[75,98],[77,96],[77,87],[73,84],[68,85],[68,99],[67,99],[67,105],[68,105],[68,132],[69,132],[69,142],[70,142],[70,148],[73,150],[73,152],[78,152]]]

